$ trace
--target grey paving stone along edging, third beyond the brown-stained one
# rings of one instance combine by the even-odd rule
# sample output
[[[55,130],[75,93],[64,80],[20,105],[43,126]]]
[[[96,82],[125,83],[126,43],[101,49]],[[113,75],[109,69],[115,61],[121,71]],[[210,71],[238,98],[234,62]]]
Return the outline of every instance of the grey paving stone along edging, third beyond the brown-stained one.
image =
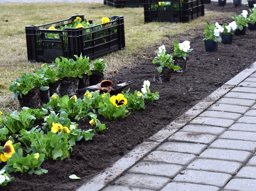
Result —
[[[230,113],[230,112],[222,112],[222,111],[205,111],[199,117],[212,117],[212,118],[221,118],[221,119],[231,119],[238,120],[242,117],[242,114],[239,113]]]

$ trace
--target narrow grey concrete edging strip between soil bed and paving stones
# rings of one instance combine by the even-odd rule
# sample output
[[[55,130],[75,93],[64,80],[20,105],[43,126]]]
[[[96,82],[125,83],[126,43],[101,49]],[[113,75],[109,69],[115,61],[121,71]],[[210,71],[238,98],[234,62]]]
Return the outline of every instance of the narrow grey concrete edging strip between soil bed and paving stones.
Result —
[[[177,117],[166,127],[151,136],[148,140],[137,145],[133,150],[117,160],[113,166],[106,168],[103,172],[96,175],[89,182],[83,184],[76,191],[100,191],[106,187],[109,183],[118,178],[124,171],[128,170],[131,166],[136,164],[139,160],[167,140],[171,135],[182,129],[186,124],[202,114],[208,107],[217,102],[220,98],[230,92],[234,87],[244,81],[255,71],[256,62],[254,62],[250,68],[246,68],[238,73],[235,77],[216,89],[184,114]]]

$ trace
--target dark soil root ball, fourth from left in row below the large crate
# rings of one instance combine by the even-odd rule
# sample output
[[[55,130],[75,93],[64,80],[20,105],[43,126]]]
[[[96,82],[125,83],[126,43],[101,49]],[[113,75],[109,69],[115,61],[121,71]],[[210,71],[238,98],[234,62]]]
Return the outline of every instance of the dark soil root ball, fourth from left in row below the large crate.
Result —
[[[61,80],[61,97],[64,95],[73,96],[78,89],[79,79],[65,77]]]

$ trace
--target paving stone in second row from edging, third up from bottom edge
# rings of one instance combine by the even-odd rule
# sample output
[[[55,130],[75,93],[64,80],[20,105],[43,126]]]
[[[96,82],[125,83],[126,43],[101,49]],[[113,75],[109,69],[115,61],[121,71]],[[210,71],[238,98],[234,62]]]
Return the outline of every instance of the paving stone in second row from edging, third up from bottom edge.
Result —
[[[234,175],[241,166],[242,163],[239,162],[198,158],[190,163],[186,170],[204,170]]]

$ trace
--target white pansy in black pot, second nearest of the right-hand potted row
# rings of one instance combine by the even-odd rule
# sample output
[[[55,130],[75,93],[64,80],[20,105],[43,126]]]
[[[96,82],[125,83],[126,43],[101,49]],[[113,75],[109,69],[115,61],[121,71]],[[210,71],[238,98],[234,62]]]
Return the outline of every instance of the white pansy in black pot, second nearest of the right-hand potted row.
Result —
[[[221,33],[221,43],[222,44],[229,44],[231,45],[233,41],[233,34],[236,31],[237,24],[235,21],[229,23],[229,24],[223,24],[221,27],[223,27],[223,32]]]

